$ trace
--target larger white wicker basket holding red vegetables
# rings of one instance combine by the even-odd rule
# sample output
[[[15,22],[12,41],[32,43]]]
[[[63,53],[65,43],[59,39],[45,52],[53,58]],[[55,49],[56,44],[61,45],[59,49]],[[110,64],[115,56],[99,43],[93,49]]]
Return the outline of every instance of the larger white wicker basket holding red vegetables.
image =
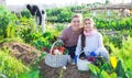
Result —
[[[54,42],[52,45],[50,54],[45,56],[45,64],[51,67],[66,66],[68,62],[68,55],[52,55],[52,51],[56,43],[59,43],[59,41]]]

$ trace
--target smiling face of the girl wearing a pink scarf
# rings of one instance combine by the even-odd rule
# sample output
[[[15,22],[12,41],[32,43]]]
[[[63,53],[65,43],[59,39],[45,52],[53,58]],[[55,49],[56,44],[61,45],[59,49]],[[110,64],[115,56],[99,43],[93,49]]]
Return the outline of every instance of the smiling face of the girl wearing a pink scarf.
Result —
[[[84,21],[84,31],[86,32],[90,32],[94,30],[94,22],[91,19],[86,19]]]

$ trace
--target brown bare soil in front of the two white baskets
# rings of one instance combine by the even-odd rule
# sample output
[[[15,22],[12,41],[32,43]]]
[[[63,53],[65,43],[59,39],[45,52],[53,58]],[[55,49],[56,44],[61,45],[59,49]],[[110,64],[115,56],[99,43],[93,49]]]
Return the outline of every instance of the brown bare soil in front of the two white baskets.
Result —
[[[68,64],[66,70],[62,67],[53,68],[41,62],[41,78],[91,78],[88,71],[79,71],[77,66]],[[63,71],[62,71],[63,70]],[[61,76],[62,71],[62,76]]]

